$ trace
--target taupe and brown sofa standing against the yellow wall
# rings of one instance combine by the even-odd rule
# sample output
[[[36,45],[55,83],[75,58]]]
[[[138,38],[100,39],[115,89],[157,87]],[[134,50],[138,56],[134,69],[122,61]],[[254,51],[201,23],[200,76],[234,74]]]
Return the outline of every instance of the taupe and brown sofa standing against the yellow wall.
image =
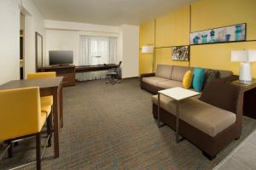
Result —
[[[145,89],[152,94],[157,94],[159,90],[166,88],[183,88],[183,76],[185,72],[193,70],[193,67],[187,66],[157,65],[155,73],[141,75],[140,85],[142,89]],[[209,70],[210,69],[205,69],[206,72]],[[219,71],[219,78],[221,79],[230,79],[232,76],[232,71]]]

